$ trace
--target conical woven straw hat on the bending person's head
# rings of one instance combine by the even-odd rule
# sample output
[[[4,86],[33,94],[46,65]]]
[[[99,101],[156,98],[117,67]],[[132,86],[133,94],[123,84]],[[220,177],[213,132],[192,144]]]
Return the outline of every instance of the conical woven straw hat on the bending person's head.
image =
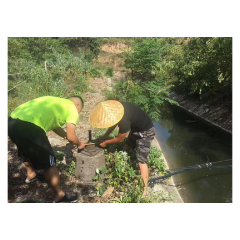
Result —
[[[89,122],[96,128],[108,128],[117,124],[123,117],[123,105],[115,100],[100,102],[93,108]]]

